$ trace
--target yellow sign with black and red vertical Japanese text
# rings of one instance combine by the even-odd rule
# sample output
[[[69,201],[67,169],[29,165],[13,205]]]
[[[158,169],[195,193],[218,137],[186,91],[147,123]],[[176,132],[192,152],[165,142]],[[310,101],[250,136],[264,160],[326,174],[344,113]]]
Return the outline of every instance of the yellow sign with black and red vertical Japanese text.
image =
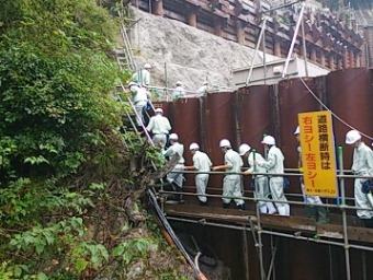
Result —
[[[308,196],[337,197],[336,153],[331,114],[298,114],[303,179]]]

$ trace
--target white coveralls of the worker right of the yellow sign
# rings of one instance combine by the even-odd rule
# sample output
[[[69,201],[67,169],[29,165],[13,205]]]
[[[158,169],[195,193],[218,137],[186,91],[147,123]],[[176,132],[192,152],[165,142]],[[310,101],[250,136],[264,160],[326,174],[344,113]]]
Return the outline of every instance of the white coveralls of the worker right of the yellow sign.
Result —
[[[351,170],[355,175],[373,176],[373,152],[363,142],[353,150],[353,163]],[[354,179],[354,203],[357,207],[372,208],[366,195],[361,191],[362,184],[365,180],[366,178]],[[373,211],[371,210],[357,210],[357,214],[360,219],[373,218]]]

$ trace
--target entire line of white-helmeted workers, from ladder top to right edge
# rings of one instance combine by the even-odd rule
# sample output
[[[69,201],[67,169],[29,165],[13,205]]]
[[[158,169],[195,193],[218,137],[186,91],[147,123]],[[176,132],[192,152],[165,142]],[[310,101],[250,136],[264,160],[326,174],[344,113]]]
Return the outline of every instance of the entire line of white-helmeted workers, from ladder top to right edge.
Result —
[[[133,103],[137,114],[137,125],[144,124],[144,108],[146,107],[150,94],[148,85],[150,83],[150,65],[145,65],[144,69],[133,74],[133,81],[128,84],[128,89],[133,93]],[[173,91],[173,98],[184,97],[185,91],[182,83],[178,81]],[[204,94],[207,90],[207,83],[199,90]],[[197,92],[199,92],[197,91]],[[275,139],[272,136],[264,136],[261,143],[264,145],[267,156],[263,158],[260,153],[251,149],[247,143],[239,147],[236,152],[227,139],[222,139],[219,147],[224,153],[224,164],[213,166],[208,155],[200,150],[200,145],[195,142],[191,143],[189,150],[193,158],[192,165],[184,165],[183,158],[184,145],[179,142],[179,137],[176,133],[169,135],[171,130],[170,121],[163,116],[161,108],[155,109],[152,116],[146,126],[146,130],[151,132],[154,143],[162,150],[162,155],[171,159],[176,153],[179,154],[179,161],[172,172],[167,175],[167,180],[171,184],[173,190],[181,192],[183,187],[182,171],[196,171],[195,187],[200,205],[207,206],[206,187],[208,184],[211,171],[225,171],[227,174],[223,180],[223,207],[229,208],[231,200],[235,201],[238,209],[245,209],[245,200],[242,199],[242,182],[241,174],[252,175],[252,185],[255,187],[255,197],[258,200],[258,207],[261,213],[280,215],[290,215],[290,203],[284,195],[284,155],[275,144]],[[294,136],[299,143],[299,127],[294,131]],[[169,141],[169,147],[166,144]],[[366,194],[371,191],[370,185],[366,183],[366,176],[373,176],[373,151],[361,140],[361,135],[357,130],[351,130],[346,135],[346,143],[354,147],[352,172],[358,176],[354,180],[354,202],[359,208],[365,210],[357,210],[358,217],[362,220],[366,228],[373,228],[373,211],[372,205],[369,201]],[[298,167],[302,170],[301,147],[298,152]],[[249,168],[242,172],[244,162],[246,159]],[[267,175],[268,174],[268,175]],[[276,175],[279,174],[279,175]],[[306,203],[306,213],[314,218],[318,223],[328,223],[329,217],[327,208],[323,206],[323,200],[318,196],[308,196],[305,194],[305,187],[302,176],[299,184],[304,202]],[[270,199],[272,198],[272,199]],[[180,202],[183,201],[181,195],[178,196]],[[274,202],[272,202],[273,200]]]

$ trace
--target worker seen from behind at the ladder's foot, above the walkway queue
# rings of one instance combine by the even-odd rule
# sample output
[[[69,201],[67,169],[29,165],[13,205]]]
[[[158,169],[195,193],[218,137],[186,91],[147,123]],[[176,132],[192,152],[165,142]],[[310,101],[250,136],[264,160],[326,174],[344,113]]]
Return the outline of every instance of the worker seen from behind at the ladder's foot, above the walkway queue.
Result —
[[[161,142],[163,148],[167,143],[167,136],[171,130],[170,121],[163,116],[163,110],[161,108],[155,109],[156,115],[149,120],[146,130],[152,133],[152,142],[159,144]]]

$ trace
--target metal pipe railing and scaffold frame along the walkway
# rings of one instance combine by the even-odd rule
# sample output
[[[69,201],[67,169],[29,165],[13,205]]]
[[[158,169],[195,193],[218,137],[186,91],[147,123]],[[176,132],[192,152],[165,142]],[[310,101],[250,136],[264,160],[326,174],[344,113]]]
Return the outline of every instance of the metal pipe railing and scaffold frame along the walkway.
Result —
[[[365,246],[365,245],[359,245],[359,244],[353,244],[350,242],[349,236],[348,236],[348,222],[347,222],[347,211],[348,210],[372,210],[372,209],[366,209],[366,208],[359,208],[359,207],[354,207],[354,206],[348,206],[346,202],[347,200],[350,200],[351,198],[347,198],[346,194],[344,194],[344,179],[346,178],[370,178],[369,176],[355,176],[355,175],[347,175],[346,173],[349,173],[351,171],[344,171],[343,170],[343,159],[342,159],[342,149],[339,147],[338,149],[338,163],[340,166],[340,170],[338,170],[338,175],[337,178],[339,180],[339,186],[340,186],[340,203],[324,203],[324,205],[318,205],[318,207],[325,207],[325,208],[334,208],[334,209],[339,209],[341,211],[341,215],[342,215],[342,242],[337,242],[337,241],[331,241],[328,238],[314,238],[314,237],[308,237],[308,236],[303,236],[302,232],[297,232],[295,234],[291,234],[291,233],[283,233],[281,231],[274,231],[274,230],[264,230],[261,225],[261,213],[259,210],[259,203],[258,201],[265,201],[265,202],[281,202],[279,200],[273,200],[273,199],[258,199],[256,197],[239,197],[241,199],[244,199],[245,201],[252,201],[256,203],[256,223],[253,223],[252,218],[248,217],[247,225],[233,225],[233,224],[225,224],[225,223],[219,223],[219,222],[210,222],[206,221],[208,218],[206,219],[200,219],[200,220],[194,220],[193,218],[179,218],[179,217],[170,217],[170,214],[167,215],[167,219],[170,221],[181,221],[181,222],[189,222],[189,223],[195,223],[195,224],[202,224],[202,225],[210,225],[210,226],[217,226],[217,228],[224,228],[224,229],[231,229],[231,230],[239,230],[242,231],[244,234],[246,234],[247,232],[251,232],[252,234],[252,238],[255,242],[255,246],[258,249],[258,258],[259,258],[259,270],[260,270],[260,275],[261,275],[261,280],[265,280],[265,279],[271,279],[271,271],[273,269],[273,261],[274,261],[274,257],[275,257],[275,252],[276,252],[276,246],[274,246],[274,248],[272,248],[272,259],[271,259],[271,264],[269,267],[269,270],[265,272],[264,271],[264,266],[263,266],[263,253],[262,253],[262,247],[263,247],[263,243],[262,243],[262,235],[270,235],[271,238],[272,237],[285,237],[285,238],[293,238],[293,240],[297,240],[297,241],[305,241],[305,242],[313,242],[313,243],[317,243],[317,244],[325,244],[325,245],[329,245],[329,246],[338,246],[338,247],[342,247],[344,250],[344,268],[346,268],[346,279],[351,280],[351,270],[350,270],[350,249],[360,249],[363,252],[373,252],[373,247],[371,246]],[[225,172],[195,172],[195,171],[182,171],[179,173],[183,173],[183,174],[211,174],[211,175],[217,175],[217,174],[226,174]],[[229,174],[239,174],[239,175],[244,175],[244,173],[229,173]],[[262,173],[255,173],[253,176],[256,175],[264,175]],[[280,176],[302,176],[302,174],[299,173],[294,173],[294,170],[286,170],[284,174],[271,174],[271,173],[265,173],[265,175],[271,176],[271,175],[280,175]],[[176,195],[176,194],[182,194],[184,196],[197,196],[196,194],[191,194],[191,192],[176,192],[176,191],[166,191],[166,190],[160,190],[158,192],[159,197],[163,197],[167,195]],[[287,194],[286,194],[287,195]],[[208,195],[206,194],[206,197],[208,198],[238,198],[238,197],[224,197],[222,195]],[[165,199],[160,200],[161,203],[165,203]],[[287,200],[287,203],[290,205],[297,205],[297,206],[309,206],[309,203],[304,202],[304,201],[292,201],[292,200]],[[163,208],[163,207],[162,207]],[[245,241],[245,238],[244,238]]]

